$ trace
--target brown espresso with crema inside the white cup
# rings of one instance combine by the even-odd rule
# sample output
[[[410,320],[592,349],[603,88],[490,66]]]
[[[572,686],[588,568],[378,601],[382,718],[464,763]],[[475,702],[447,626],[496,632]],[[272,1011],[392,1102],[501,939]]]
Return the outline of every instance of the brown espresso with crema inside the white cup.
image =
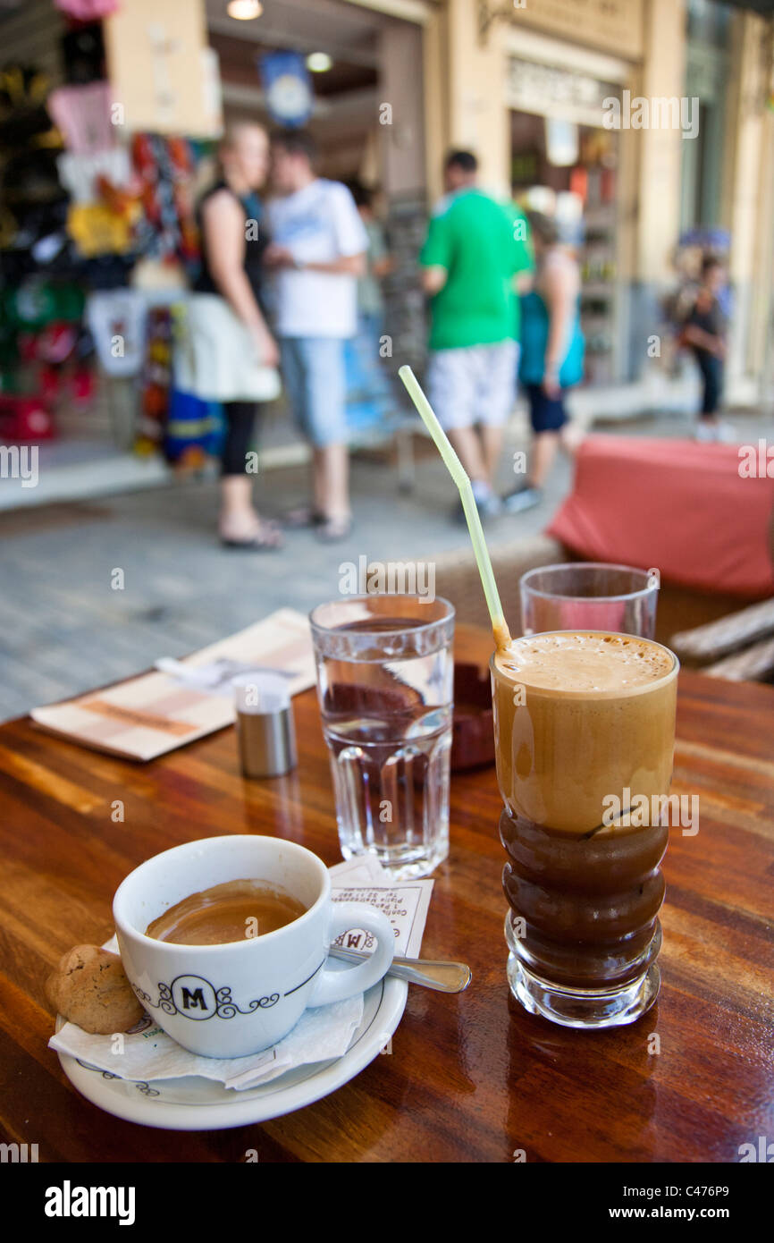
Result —
[[[175,945],[225,945],[276,932],[307,907],[260,880],[227,880],[175,902],[145,929],[145,936]]]

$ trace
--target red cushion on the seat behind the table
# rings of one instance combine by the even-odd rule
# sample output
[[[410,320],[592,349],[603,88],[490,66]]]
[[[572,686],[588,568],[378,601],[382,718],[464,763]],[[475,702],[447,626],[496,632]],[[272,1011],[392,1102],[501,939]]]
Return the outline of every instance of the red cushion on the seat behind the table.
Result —
[[[774,481],[760,469],[743,479],[742,452],[693,440],[586,436],[573,492],[547,534],[589,561],[655,567],[665,582],[772,595]]]

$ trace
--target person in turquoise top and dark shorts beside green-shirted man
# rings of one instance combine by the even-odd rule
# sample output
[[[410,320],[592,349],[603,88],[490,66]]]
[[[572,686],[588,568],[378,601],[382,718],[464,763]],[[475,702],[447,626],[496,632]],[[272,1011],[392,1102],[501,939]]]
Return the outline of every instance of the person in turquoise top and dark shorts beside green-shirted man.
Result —
[[[537,266],[533,288],[522,298],[519,379],[534,439],[526,486],[503,498],[509,513],[539,505],[560,443],[574,452],[578,435],[564,409],[564,394],[583,378],[578,264],[560,244],[554,220],[539,211],[527,215]]]

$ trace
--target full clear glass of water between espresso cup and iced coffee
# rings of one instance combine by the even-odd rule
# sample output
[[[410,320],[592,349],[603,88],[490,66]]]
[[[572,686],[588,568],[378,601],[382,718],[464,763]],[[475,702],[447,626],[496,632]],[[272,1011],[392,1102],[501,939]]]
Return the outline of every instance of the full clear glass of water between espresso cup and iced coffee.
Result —
[[[448,854],[455,610],[359,595],[309,620],[342,854],[426,876]]]

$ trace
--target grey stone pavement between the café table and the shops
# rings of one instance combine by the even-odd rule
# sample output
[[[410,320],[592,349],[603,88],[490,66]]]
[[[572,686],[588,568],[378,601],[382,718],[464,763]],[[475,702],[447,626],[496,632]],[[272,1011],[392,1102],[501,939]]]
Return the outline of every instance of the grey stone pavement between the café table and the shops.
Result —
[[[740,440],[765,434],[752,415],[734,425]],[[642,420],[617,430],[685,435],[686,423]],[[523,429],[512,429],[501,490],[513,486],[508,465],[519,447]],[[560,459],[542,505],[493,521],[487,538],[501,543],[542,531],[570,481]],[[338,594],[343,563],[360,556],[431,559],[467,544],[466,530],[451,518],[456,488],[434,450],[417,462],[411,493],[398,490],[393,466],[367,456],[354,459],[352,484],[348,539],[321,544],[293,531],[278,553],[219,544],[214,480],[0,515],[0,720],[139,672],[159,656],[184,655],[277,608],[308,612]],[[257,496],[263,513],[280,516],[306,500],[306,471],[267,472]],[[123,590],[111,587],[117,568]]]

